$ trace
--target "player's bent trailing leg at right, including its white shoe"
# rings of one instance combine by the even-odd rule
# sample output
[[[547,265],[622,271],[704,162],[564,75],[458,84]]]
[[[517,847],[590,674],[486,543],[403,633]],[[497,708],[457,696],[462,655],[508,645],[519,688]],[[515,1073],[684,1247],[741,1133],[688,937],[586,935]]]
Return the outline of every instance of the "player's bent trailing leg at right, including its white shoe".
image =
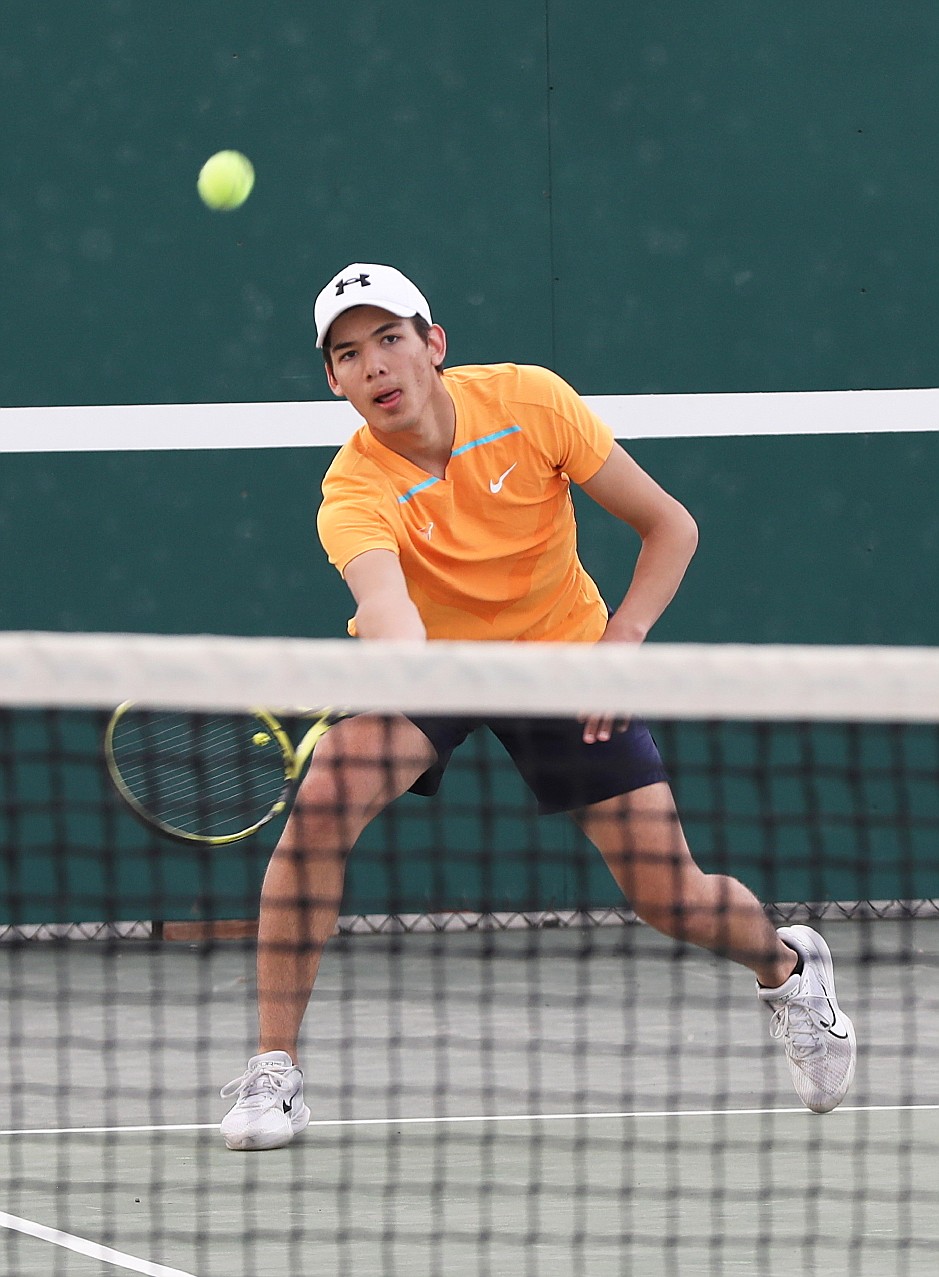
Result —
[[[810,927],[773,930],[742,882],[692,859],[667,783],[575,813],[640,918],[749,967],[783,1041],[796,1092],[828,1112],[855,1075],[855,1029],[838,1006],[832,954]]]

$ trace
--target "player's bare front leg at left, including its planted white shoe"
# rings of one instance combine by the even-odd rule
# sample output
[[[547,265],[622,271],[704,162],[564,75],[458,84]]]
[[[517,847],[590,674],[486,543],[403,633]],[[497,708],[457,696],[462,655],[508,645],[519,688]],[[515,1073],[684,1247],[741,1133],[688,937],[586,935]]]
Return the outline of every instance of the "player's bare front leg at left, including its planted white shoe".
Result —
[[[264,875],[258,923],[258,1054],[222,1088],[234,1149],[280,1148],[309,1122],[296,1038],[342,900],[349,852],[362,830],[436,761],[404,718],[362,715],[317,746]]]

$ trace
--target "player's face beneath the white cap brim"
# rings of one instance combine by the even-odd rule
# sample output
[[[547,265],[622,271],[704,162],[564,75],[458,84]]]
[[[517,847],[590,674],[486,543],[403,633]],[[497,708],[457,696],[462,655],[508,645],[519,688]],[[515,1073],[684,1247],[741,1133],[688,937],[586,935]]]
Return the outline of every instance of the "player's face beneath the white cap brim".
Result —
[[[424,342],[410,319],[378,306],[355,306],[333,321],[330,346],[326,375],[333,393],[347,398],[376,430],[418,428],[437,397],[446,395],[434,366],[446,354],[437,324]]]

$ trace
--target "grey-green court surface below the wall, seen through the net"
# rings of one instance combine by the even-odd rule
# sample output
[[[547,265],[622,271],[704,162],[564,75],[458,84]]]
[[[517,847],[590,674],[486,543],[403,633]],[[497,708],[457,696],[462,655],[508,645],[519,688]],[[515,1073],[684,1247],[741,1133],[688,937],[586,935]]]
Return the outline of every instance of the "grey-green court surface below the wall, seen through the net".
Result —
[[[253,948],[32,944],[9,1014],[9,1277],[934,1273],[939,922],[828,923],[861,1054],[802,1110],[749,973],[640,926],[356,936],[313,1125],[233,1153]]]

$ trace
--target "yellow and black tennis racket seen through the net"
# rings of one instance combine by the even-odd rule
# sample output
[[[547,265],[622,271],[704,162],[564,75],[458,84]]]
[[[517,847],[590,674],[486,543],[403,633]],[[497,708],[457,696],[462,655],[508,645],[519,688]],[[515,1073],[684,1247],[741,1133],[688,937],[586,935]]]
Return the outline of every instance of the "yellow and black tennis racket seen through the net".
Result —
[[[222,847],[250,838],[291,803],[332,710],[304,711],[313,723],[294,747],[268,710],[174,714],[125,701],[105,730],[114,785],[146,825],[181,843]]]

